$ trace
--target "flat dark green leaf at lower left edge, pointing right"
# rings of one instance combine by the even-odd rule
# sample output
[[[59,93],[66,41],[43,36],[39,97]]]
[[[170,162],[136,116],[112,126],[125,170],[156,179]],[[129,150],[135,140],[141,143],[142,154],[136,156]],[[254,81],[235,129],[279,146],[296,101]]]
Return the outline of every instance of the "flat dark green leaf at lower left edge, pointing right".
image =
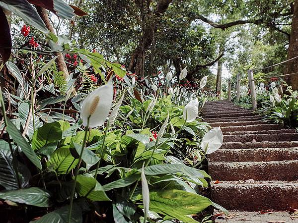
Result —
[[[49,192],[38,187],[0,192],[0,199],[37,207],[50,207],[50,198]]]

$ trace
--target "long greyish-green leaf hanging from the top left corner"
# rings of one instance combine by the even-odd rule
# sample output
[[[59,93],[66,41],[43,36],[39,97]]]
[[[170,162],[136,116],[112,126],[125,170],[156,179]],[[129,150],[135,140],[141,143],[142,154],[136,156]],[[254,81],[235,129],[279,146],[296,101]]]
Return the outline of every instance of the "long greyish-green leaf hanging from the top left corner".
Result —
[[[34,26],[43,33],[49,33],[45,23],[36,9],[26,0],[0,0],[0,7],[21,17],[28,25]]]

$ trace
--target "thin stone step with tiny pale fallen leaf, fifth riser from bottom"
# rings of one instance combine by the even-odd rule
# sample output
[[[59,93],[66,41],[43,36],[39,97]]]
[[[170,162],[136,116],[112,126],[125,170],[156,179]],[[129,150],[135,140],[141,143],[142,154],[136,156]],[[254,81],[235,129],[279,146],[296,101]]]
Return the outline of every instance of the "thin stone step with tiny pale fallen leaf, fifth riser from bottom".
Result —
[[[224,142],[298,141],[298,133],[224,135]]]

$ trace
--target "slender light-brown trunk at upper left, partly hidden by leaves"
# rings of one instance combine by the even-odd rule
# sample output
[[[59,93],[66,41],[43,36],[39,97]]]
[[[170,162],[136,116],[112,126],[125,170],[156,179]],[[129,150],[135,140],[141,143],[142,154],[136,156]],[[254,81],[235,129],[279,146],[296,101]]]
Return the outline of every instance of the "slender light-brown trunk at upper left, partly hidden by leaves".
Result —
[[[46,24],[48,30],[50,30],[52,33],[54,32],[54,28],[50,22],[49,16],[48,16],[48,12],[45,8],[36,6],[37,12],[40,15],[40,17],[42,18],[42,20],[44,21],[44,23]],[[65,63],[65,59],[62,53],[56,53],[55,54],[57,57],[56,62],[57,62],[57,66],[59,71],[62,71],[64,74],[64,78],[67,79],[69,76],[69,72]]]

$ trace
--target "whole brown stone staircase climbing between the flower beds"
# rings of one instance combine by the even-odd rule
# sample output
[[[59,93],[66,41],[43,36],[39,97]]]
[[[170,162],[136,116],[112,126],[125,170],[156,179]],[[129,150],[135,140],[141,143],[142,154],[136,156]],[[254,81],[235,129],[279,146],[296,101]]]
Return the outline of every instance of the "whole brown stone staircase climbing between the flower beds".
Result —
[[[223,146],[208,156],[212,200],[236,210],[228,223],[298,222],[298,133],[228,101],[206,103],[203,118],[221,127]],[[275,214],[260,215],[261,210]],[[270,217],[270,216],[269,216]]]

